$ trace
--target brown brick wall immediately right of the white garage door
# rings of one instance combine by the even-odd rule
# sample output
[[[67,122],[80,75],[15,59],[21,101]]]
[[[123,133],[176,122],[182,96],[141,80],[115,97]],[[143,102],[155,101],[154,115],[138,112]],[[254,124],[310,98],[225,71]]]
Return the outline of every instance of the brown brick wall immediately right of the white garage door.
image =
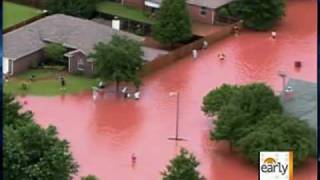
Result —
[[[33,62],[39,63],[42,58],[43,58],[43,51],[39,50],[30,55],[16,59],[15,61],[13,61],[13,75],[19,74],[28,70],[31,67]]]

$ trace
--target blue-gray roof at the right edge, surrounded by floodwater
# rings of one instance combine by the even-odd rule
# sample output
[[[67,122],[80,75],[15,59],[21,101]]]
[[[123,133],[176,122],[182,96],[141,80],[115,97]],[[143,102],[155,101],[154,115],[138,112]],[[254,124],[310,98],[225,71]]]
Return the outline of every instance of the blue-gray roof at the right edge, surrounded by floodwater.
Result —
[[[287,114],[307,121],[312,128],[317,128],[317,84],[297,79],[289,79],[287,87],[293,89],[293,99],[281,103]]]

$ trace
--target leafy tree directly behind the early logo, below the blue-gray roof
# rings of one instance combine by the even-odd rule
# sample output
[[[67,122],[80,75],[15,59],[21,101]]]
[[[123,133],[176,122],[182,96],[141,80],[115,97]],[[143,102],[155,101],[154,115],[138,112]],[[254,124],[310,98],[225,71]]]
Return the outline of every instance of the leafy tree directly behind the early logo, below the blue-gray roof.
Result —
[[[315,155],[316,132],[300,119],[270,114],[237,144],[254,164],[258,163],[260,151],[293,151],[294,165],[297,166]]]

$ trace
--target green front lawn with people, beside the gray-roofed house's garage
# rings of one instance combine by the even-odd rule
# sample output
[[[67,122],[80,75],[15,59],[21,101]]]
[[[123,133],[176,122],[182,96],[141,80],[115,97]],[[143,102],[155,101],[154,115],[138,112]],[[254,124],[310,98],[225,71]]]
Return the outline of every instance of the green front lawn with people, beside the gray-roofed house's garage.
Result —
[[[34,82],[30,82],[29,80],[32,74],[36,77]],[[92,86],[98,84],[97,79],[64,74],[66,79],[66,90],[61,91],[60,81],[57,78],[58,74],[61,74],[61,72],[40,69],[29,70],[4,83],[4,92],[15,95],[55,96],[63,93],[71,94],[90,90]],[[23,82],[28,82],[28,90],[22,90],[21,84]]]

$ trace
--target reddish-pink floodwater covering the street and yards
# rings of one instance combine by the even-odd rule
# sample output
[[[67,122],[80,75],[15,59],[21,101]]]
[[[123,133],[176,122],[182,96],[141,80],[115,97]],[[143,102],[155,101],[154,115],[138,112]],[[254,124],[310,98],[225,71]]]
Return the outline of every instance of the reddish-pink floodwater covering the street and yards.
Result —
[[[316,1],[288,1],[287,16],[270,32],[241,32],[144,78],[139,101],[116,98],[92,100],[90,92],[65,97],[25,97],[27,109],[43,126],[57,126],[60,136],[71,142],[80,164],[79,175],[95,174],[103,180],[156,180],[168,161],[186,147],[209,180],[255,180],[257,167],[229,151],[227,144],[209,140],[211,122],[201,112],[202,97],[222,83],[268,83],[276,91],[282,81],[278,71],[289,77],[316,81]],[[219,61],[217,54],[226,54]],[[295,69],[294,61],[302,61]],[[180,92],[179,136],[175,135],[176,99]],[[137,162],[131,166],[131,154]],[[295,170],[296,180],[316,179],[316,160]]]

